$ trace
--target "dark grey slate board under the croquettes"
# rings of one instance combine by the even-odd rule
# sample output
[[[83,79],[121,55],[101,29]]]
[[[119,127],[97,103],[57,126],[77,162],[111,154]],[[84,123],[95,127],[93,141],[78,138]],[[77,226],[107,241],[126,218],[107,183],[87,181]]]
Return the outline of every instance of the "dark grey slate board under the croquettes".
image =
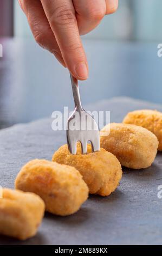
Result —
[[[97,102],[89,110],[110,110],[111,121],[120,122],[128,111],[162,106],[125,97]],[[51,130],[51,119],[19,124],[0,131],[0,184],[14,187],[14,179],[26,162],[51,160],[66,142],[64,132]],[[124,169],[124,168],[123,168]],[[150,168],[124,169],[120,186],[109,197],[89,196],[69,217],[46,214],[38,233],[27,241],[0,236],[0,245],[143,245],[162,244],[158,186],[162,185],[162,154]]]

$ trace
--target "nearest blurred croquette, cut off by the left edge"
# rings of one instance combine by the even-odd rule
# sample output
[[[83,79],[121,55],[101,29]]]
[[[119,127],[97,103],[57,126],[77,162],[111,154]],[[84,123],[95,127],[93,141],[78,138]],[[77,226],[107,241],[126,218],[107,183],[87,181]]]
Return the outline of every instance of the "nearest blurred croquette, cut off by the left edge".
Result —
[[[3,198],[0,199],[0,234],[20,240],[34,236],[44,210],[44,202],[36,194],[3,188]]]

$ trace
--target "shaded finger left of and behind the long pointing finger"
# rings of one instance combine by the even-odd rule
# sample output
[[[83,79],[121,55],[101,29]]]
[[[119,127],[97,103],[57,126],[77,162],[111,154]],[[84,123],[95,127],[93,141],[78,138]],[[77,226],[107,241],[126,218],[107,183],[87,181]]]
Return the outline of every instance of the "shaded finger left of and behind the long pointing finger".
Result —
[[[19,0],[21,8],[27,16],[36,42],[53,53],[59,62],[66,66],[61,56],[53,31],[50,28],[42,4],[38,0]]]

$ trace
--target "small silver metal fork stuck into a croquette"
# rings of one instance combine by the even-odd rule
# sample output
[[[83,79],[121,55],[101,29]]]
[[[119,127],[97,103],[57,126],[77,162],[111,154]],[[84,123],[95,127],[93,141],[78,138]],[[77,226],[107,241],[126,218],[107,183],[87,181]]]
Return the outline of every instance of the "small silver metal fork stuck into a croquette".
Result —
[[[87,142],[90,141],[92,151],[100,150],[100,135],[94,118],[81,105],[79,87],[76,78],[70,74],[75,110],[67,123],[67,143],[70,153],[76,154],[76,143],[81,143],[82,154],[87,153]],[[75,124],[75,125],[74,125]],[[74,127],[75,126],[75,127]]]

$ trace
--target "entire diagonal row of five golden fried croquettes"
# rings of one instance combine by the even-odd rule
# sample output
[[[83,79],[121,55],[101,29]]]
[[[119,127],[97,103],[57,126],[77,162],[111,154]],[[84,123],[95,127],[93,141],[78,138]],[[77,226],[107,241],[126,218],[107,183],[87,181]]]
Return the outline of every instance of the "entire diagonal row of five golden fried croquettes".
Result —
[[[128,113],[122,124],[103,127],[100,144],[100,151],[95,153],[88,144],[84,155],[80,143],[76,155],[63,145],[52,161],[25,164],[15,180],[16,190],[3,189],[0,233],[28,239],[36,234],[44,210],[60,216],[74,214],[88,193],[108,196],[118,187],[121,165],[132,169],[149,167],[157,149],[162,149],[162,113]]]

